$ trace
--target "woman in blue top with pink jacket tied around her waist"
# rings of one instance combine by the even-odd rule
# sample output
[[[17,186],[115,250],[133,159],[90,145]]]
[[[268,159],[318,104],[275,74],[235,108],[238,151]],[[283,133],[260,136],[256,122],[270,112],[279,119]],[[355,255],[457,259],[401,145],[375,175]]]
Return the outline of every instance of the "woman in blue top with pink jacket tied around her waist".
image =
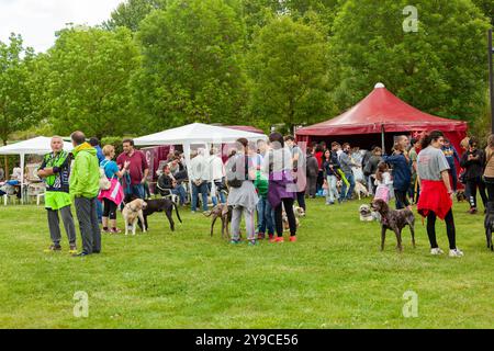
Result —
[[[119,166],[113,161],[115,148],[112,145],[103,147],[103,155],[104,160],[101,161],[100,168],[104,170],[104,178],[100,179],[101,190],[98,195],[98,200],[103,202],[103,233],[117,234],[121,230],[116,228],[116,208],[124,199],[124,191],[119,179],[127,171],[128,161],[125,161],[123,169],[119,170]]]

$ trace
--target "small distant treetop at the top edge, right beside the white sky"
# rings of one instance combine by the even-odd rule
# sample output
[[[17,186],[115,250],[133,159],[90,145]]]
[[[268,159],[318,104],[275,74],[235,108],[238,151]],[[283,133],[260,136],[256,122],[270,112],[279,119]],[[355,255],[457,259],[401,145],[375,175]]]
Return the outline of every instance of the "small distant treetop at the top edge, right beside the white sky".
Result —
[[[126,0],[119,4],[111,14],[111,19],[104,22],[109,30],[125,26],[132,32],[137,32],[141,22],[157,9],[165,9],[167,0]]]

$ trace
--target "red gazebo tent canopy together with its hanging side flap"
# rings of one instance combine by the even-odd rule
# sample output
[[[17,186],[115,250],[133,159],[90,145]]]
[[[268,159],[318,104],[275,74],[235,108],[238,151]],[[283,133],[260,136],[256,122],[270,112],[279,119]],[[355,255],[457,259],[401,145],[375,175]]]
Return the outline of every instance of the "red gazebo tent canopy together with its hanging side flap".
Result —
[[[393,145],[395,135],[406,134],[413,137],[424,132],[441,131],[460,152],[460,140],[467,136],[467,122],[437,117],[422,112],[391,93],[382,83],[357,105],[344,114],[326,122],[317,123],[296,131],[296,140],[348,141],[360,148],[371,145]]]

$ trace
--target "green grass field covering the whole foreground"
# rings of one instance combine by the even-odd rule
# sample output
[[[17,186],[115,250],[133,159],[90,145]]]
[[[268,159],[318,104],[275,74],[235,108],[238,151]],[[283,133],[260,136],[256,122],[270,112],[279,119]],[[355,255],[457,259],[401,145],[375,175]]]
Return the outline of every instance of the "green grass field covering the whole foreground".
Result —
[[[149,234],[104,235],[103,252],[87,258],[68,254],[65,234],[64,252],[44,252],[42,206],[1,206],[0,327],[494,327],[494,253],[482,215],[454,205],[465,256],[451,259],[429,256],[419,218],[416,249],[406,228],[402,254],[390,231],[381,252],[379,224],[359,222],[359,205],[308,201],[296,244],[257,247],[228,245],[220,226],[211,238],[210,218],[184,210],[171,234],[158,214]],[[438,241],[447,251],[442,223]],[[89,295],[88,318],[74,316],[78,291]],[[406,291],[418,295],[416,318],[403,316]]]

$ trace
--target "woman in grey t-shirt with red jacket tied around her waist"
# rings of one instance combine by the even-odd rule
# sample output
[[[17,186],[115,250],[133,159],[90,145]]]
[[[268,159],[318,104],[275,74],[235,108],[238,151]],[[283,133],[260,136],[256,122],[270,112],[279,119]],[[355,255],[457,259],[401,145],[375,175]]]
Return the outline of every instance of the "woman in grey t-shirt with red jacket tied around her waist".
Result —
[[[441,151],[445,144],[442,132],[434,131],[420,141],[422,151],[417,158],[417,172],[420,181],[420,196],[417,211],[427,217],[427,235],[430,241],[430,253],[441,254],[444,251],[436,241],[436,218],[446,222],[449,240],[449,256],[461,257],[463,252],[457,248],[454,219],[452,214],[452,190],[449,182],[449,165]]]

